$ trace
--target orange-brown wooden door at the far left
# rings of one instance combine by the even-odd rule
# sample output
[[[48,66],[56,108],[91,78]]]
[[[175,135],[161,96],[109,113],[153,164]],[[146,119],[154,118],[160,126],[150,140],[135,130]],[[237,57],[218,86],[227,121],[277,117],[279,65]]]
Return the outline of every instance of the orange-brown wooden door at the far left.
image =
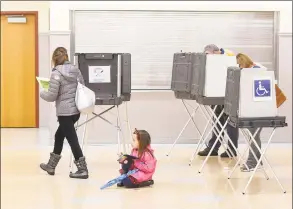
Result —
[[[38,127],[37,17],[1,13],[1,127]],[[8,18],[12,18],[11,23]],[[19,18],[19,17],[18,17]]]

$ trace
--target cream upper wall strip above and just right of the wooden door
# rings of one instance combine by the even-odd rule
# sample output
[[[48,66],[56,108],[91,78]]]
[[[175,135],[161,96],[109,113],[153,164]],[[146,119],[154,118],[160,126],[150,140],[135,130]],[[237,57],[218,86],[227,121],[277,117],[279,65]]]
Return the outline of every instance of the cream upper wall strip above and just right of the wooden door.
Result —
[[[39,32],[49,31],[50,1],[1,1],[1,11],[38,11]]]

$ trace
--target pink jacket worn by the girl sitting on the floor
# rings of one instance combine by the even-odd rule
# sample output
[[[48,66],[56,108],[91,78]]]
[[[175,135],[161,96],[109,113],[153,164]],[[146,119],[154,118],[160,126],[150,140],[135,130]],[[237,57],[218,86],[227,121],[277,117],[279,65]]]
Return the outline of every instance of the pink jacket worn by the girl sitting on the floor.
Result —
[[[151,146],[148,146],[148,150],[152,154],[154,153],[154,150],[151,148]],[[151,180],[153,174],[155,173],[157,160],[154,157],[154,154],[152,155],[149,152],[145,151],[140,159],[134,160],[133,168],[138,169],[138,171],[131,176],[135,178],[137,183]],[[132,149],[131,155],[138,157],[137,149]]]

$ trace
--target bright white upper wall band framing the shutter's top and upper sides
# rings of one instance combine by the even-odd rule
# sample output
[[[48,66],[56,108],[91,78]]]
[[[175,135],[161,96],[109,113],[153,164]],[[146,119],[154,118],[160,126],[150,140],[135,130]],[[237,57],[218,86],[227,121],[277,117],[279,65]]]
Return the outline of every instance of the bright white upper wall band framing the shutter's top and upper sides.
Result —
[[[290,1],[51,1],[50,30],[69,30],[69,10],[279,11],[280,32],[292,33]]]

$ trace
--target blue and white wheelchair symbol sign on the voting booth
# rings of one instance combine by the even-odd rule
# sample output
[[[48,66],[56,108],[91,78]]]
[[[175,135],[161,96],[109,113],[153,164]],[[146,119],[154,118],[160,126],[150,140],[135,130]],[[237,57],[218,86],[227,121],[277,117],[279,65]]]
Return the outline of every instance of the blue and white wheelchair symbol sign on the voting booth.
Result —
[[[254,101],[268,101],[272,99],[270,79],[254,79],[253,98]]]

